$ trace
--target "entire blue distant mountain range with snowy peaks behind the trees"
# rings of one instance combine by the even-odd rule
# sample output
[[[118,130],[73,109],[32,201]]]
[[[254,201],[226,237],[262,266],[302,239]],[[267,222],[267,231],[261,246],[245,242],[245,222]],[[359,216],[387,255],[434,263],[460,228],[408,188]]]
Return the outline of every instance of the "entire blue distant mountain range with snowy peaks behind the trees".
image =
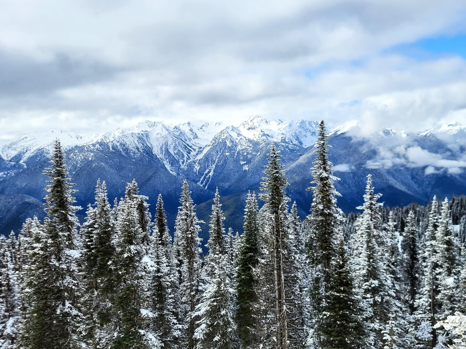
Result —
[[[164,196],[173,226],[181,182],[190,182],[199,216],[208,220],[213,192],[219,188],[226,226],[241,230],[244,198],[258,190],[270,144],[283,155],[288,170],[288,196],[308,214],[312,200],[309,168],[318,121],[280,121],[253,116],[239,127],[223,122],[169,125],[143,121],[134,128],[81,136],[53,129],[14,140],[0,141],[0,232],[17,231],[29,215],[43,216],[43,168],[55,138],[66,151],[76,199],[82,207],[93,202],[97,178],[107,182],[109,196],[120,197],[125,183],[137,180],[141,193],[155,207]],[[452,123],[420,131],[383,129],[362,135],[356,121],[329,129],[331,161],[341,178],[339,206],[346,212],[362,202],[365,176],[373,175],[376,189],[389,206],[426,203],[466,194],[466,126]],[[83,213],[84,210],[81,211]],[[203,229],[206,237],[207,224]]]

